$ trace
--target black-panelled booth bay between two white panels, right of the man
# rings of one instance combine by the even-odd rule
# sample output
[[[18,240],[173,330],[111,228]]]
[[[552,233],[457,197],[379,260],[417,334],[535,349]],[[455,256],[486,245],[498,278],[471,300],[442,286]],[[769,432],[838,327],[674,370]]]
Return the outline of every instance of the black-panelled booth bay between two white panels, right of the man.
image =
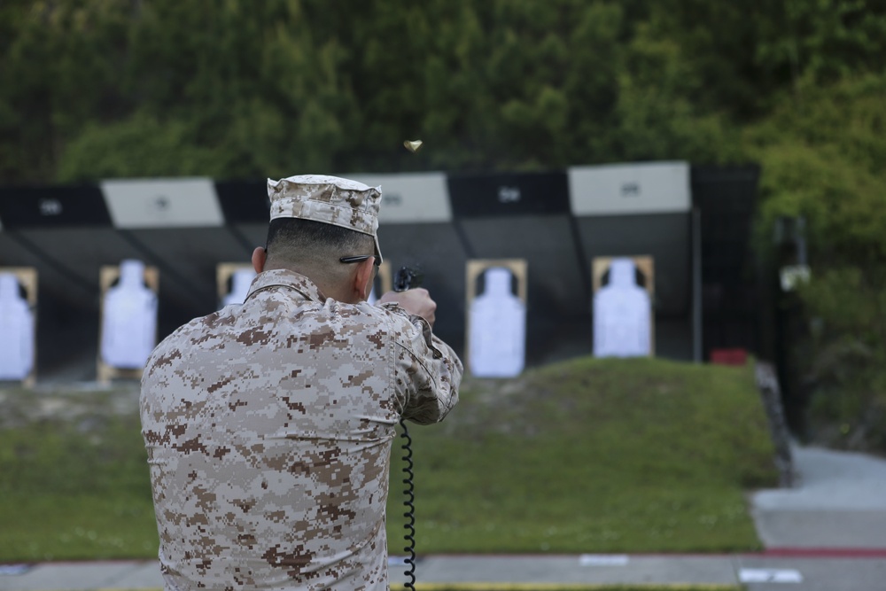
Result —
[[[526,362],[590,352],[589,283],[565,172],[450,175],[470,260],[526,261]]]

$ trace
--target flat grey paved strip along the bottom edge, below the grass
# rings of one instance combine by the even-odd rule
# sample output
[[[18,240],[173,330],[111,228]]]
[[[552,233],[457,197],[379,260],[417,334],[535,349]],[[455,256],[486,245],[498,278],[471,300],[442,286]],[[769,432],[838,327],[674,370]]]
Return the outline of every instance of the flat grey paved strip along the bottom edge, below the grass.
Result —
[[[878,591],[886,589],[880,556],[429,556],[416,571],[419,591],[541,591],[602,585],[687,585],[707,591],[746,584],[749,591]],[[392,584],[405,578],[392,566]],[[4,591],[159,589],[154,562],[38,564],[0,574]]]

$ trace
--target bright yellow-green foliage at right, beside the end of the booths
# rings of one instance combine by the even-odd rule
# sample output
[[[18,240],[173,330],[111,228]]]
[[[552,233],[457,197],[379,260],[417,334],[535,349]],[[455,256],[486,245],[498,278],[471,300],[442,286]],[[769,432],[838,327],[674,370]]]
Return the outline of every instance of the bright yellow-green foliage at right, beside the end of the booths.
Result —
[[[763,163],[759,233],[807,221],[811,334],[794,346],[812,435],[886,452],[886,75],[798,90],[746,134]]]

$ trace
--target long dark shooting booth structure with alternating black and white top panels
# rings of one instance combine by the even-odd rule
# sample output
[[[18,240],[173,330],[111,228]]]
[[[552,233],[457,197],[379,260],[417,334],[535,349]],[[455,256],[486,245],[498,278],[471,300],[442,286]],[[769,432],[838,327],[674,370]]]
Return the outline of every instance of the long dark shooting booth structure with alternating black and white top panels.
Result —
[[[592,354],[595,291],[608,281],[600,265],[617,259],[618,268],[638,261],[637,285],[651,307],[650,354],[701,361],[713,347],[757,348],[749,327],[766,302],[748,287],[756,167],[649,162],[341,175],[382,189],[385,268],[377,289],[401,267],[416,268],[439,305],[435,332],[459,354],[470,302],[486,289],[481,263],[512,268],[511,295],[525,307],[527,365]],[[0,187],[0,267],[34,268],[40,277],[40,373],[92,377],[100,268],[136,260],[157,269],[157,337],[164,338],[218,309],[235,271],[248,271],[253,248],[265,244],[269,211],[266,179]],[[504,289],[501,272],[489,277],[496,293]],[[237,276],[240,288],[244,281]]]

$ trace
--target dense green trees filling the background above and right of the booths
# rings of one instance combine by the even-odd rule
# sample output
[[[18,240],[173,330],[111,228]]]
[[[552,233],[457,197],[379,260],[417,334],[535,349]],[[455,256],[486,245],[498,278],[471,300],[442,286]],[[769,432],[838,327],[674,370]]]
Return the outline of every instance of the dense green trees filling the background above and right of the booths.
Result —
[[[880,0],[0,3],[0,183],[760,163],[850,435],[886,414],[884,128]]]

